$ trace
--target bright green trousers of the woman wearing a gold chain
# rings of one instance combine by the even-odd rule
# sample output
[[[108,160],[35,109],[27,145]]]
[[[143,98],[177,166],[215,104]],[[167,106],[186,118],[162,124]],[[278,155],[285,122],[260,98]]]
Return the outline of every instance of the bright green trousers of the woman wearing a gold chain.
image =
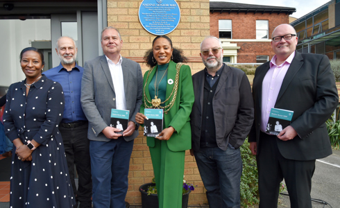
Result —
[[[158,139],[149,150],[160,208],[181,208],[185,151],[173,152]]]

